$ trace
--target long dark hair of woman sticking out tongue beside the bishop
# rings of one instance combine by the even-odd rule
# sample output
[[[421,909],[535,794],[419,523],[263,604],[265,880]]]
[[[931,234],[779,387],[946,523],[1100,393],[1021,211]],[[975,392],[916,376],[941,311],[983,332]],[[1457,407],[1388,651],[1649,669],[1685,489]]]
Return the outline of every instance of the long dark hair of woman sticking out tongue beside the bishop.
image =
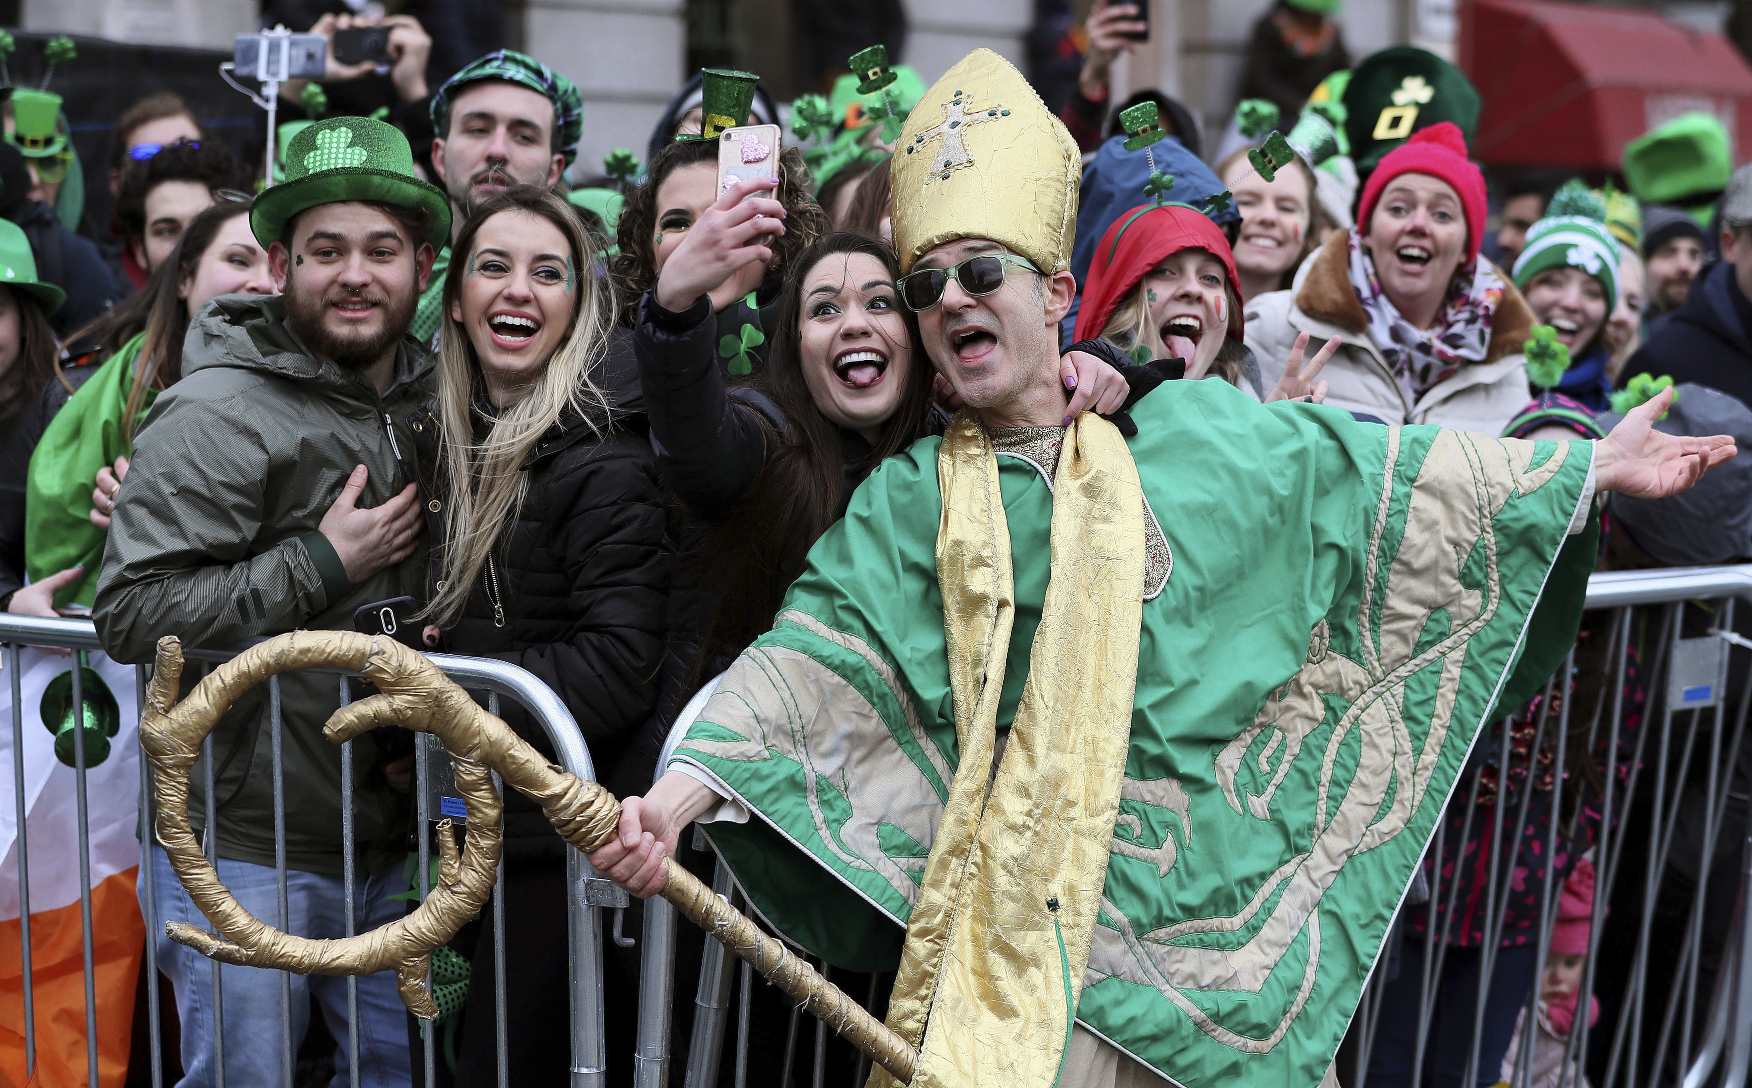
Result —
[[[839,427],[822,415],[802,377],[802,293],[808,273],[827,258],[864,254],[899,279],[901,265],[881,240],[860,231],[834,231],[802,251],[785,279],[778,331],[757,387],[785,413],[788,434],[764,417],[766,466],[748,494],[718,527],[708,554],[710,585],[720,587],[718,611],[699,655],[699,669],[720,655],[741,650],[766,631],[802,573],[802,561],[815,541],[846,506],[846,454]],[[918,347],[918,319],[901,307],[913,350],[906,389],[895,413],[881,426],[860,468],[874,468],[927,433],[930,412],[930,359]],[[862,473],[860,473],[862,475]],[[696,669],[697,671],[697,669]],[[704,680],[704,676],[696,676]]]

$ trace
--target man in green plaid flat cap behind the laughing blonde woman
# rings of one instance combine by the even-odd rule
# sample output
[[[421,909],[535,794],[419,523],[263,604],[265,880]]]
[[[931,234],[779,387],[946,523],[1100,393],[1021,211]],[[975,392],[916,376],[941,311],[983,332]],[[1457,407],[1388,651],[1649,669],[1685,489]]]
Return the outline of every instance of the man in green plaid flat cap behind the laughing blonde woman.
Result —
[[[583,137],[578,88],[515,49],[496,49],[447,79],[433,95],[431,112],[433,170],[450,194],[456,230],[482,196],[512,186],[557,186]],[[412,326],[413,338],[433,347],[443,321],[449,242],[438,247]]]

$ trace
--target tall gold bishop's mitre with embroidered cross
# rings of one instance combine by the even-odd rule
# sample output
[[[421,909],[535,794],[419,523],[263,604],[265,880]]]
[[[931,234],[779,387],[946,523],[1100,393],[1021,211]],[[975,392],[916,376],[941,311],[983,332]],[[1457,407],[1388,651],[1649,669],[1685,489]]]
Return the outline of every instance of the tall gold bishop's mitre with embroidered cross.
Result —
[[[894,247],[901,272],[955,238],[990,238],[1042,272],[1070,268],[1077,142],[1028,81],[974,49],[913,107],[894,152]]]

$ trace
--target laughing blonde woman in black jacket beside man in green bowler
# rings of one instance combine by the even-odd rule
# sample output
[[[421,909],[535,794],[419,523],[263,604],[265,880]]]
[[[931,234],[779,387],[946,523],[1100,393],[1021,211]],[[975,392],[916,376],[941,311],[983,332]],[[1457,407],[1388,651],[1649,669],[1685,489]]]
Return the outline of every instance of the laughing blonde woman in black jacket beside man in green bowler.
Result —
[[[590,275],[599,249],[547,187],[478,203],[445,277],[436,401],[408,424],[433,545],[426,645],[534,673],[608,776],[655,703],[669,548],[645,420],[603,392],[613,300]],[[499,713],[552,757],[520,708]],[[505,1000],[517,1084],[562,1079],[571,1060],[566,1002],[554,999],[566,992],[566,850],[534,802],[506,797]],[[471,951],[457,1081],[487,1084],[492,941]]]

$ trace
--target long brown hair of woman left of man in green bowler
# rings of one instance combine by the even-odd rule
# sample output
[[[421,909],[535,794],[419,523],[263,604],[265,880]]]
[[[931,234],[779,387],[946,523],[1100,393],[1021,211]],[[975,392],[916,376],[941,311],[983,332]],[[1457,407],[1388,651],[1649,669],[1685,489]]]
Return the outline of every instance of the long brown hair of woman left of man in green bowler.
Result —
[[[182,378],[182,338],[189,331],[191,315],[189,305],[177,296],[179,289],[194,279],[201,258],[219,237],[219,228],[245,214],[249,214],[249,205],[240,200],[221,200],[203,208],[189,221],[177,247],[152,272],[152,279],[145,280],[145,287],[67,338],[70,345],[82,345],[77,350],[95,347],[109,357],[145,331],[145,343],[140,345],[140,356],[135,361],[140,377],[128,391],[128,408],[123,412],[124,445],[133,445],[133,427],[140,417],[145,392],[170,389]]]

